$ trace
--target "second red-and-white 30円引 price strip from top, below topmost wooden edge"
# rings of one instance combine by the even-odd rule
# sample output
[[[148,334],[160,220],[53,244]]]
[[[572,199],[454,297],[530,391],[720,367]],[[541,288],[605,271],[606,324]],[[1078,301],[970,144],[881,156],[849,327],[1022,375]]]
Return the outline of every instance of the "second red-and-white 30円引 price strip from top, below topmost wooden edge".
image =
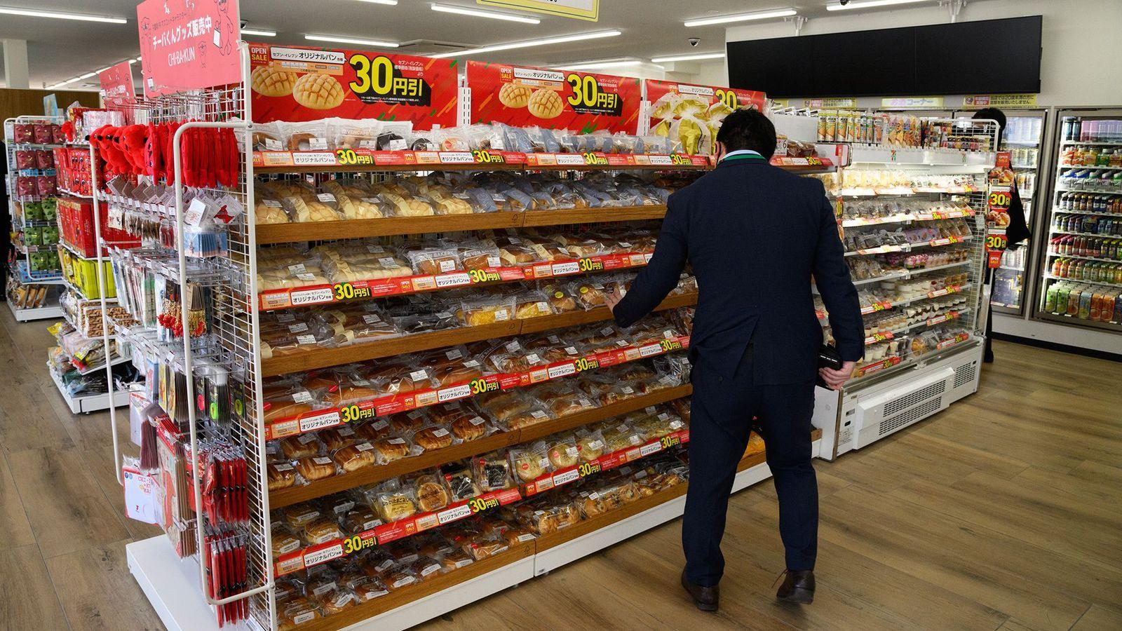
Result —
[[[396,278],[375,278],[352,283],[321,284],[304,287],[269,290],[258,293],[260,309],[273,311],[293,307],[332,304],[353,300],[368,300],[389,295],[427,293],[470,285],[508,283],[512,281],[535,281],[573,274],[610,272],[642,267],[647,264],[643,253],[608,254],[570,260],[530,264],[525,267],[486,267],[482,269],[457,269],[443,274],[420,274]]]

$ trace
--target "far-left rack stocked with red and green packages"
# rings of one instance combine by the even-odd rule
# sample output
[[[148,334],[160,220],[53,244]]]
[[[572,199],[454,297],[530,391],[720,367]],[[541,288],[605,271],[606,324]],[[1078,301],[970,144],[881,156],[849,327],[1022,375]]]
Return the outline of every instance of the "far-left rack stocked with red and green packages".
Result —
[[[57,128],[62,119],[46,116],[20,116],[3,124],[8,176],[8,217],[11,222],[12,248],[8,256],[8,308],[19,322],[61,318],[58,285],[62,273],[55,244],[58,222],[55,218],[55,168],[52,152],[62,146],[54,134],[43,129]],[[40,131],[38,138],[36,129]],[[38,183],[49,182],[49,186]],[[49,207],[44,209],[44,205]],[[7,253],[4,253],[7,255]]]

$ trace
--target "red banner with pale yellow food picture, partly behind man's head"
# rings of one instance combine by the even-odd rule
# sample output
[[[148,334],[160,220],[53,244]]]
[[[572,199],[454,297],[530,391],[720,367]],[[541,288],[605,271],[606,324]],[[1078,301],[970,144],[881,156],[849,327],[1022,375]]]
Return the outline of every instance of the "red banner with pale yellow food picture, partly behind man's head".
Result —
[[[766,94],[753,90],[653,79],[644,82],[644,90],[651,103],[647,129],[681,143],[687,154],[711,154],[726,116],[744,108],[762,110],[767,101]]]

